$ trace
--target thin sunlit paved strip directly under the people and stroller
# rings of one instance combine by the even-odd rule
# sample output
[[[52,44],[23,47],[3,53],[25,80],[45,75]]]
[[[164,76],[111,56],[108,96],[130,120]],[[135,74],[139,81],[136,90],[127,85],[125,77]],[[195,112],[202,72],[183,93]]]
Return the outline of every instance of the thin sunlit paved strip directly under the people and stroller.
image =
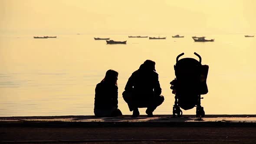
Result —
[[[172,115],[154,115],[148,118],[147,115],[139,115],[131,118],[131,115],[123,115],[114,118],[96,118],[95,116],[71,115],[71,116],[26,116],[26,117],[0,117],[0,121],[81,121],[81,122],[197,122],[197,121],[226,121],[226,122],[256,122],[256,115],[205,115],[204,118],[196,118],[195,115],[184,115],[181,118],[174,118]]]

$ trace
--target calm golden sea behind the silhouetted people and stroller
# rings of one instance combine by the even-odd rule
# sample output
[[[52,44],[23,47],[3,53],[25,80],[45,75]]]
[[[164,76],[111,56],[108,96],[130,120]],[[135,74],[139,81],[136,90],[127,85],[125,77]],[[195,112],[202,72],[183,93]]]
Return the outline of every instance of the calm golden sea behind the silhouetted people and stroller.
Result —
[[[143,36],[143,35],[142,35]],[[158,35],[148,35],[158,36]],[[132,72],[146,60],[156,62],[164,103],[154,114],[172,114],[176,57],[197,52],[209,65],[209,92],[201,101],[206,114],[256,114],[256,38],[204,35],[215,42],[195,43],[191,36],[149,40],[128,35],[0,36],[0,116],[93,115],[95,85],[108,69],[119,72],[118,107],[131,115],[122,98]],[[200,35],[197,35],[200,36]],[[93,37],[127,40],[107,45]],[[145,108],[140,109],[145,114]],[[195,108],[183,111],[195,114]]]

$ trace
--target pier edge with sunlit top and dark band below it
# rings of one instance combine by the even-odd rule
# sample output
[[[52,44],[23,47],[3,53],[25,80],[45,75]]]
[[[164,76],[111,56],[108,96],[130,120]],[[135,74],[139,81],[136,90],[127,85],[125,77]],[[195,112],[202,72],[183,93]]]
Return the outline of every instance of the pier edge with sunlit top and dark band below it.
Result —
[[[216,121],[209,119],[218,118]],[[232,121],[225,120],[232,118]],[[223,120],[221,120],[223,119]],[[140,115],[131,118],[96,118],[95,116],[32,116],[32,117],[0,117],[0,127],[42,127],[42,128],[102,128],[102,127],[256,127],[256,115],[184,115],[173,118],[172,115],[154,115],[147,118]]]

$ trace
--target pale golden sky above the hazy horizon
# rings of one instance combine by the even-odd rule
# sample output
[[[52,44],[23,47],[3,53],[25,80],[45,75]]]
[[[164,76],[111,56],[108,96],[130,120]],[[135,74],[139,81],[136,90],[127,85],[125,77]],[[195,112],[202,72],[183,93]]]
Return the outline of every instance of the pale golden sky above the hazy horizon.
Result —
[[[0,0],[0,33],[256,33],[256,0]]]

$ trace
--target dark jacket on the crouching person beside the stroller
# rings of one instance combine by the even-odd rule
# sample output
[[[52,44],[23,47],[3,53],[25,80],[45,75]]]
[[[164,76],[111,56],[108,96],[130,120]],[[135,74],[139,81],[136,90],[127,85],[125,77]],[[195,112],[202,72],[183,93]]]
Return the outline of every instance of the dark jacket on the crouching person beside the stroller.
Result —
[[[161,95],[158,73],[153,70],[138,69],[128,79],[125,91],[132,93],[133,97],[138,99]]]

